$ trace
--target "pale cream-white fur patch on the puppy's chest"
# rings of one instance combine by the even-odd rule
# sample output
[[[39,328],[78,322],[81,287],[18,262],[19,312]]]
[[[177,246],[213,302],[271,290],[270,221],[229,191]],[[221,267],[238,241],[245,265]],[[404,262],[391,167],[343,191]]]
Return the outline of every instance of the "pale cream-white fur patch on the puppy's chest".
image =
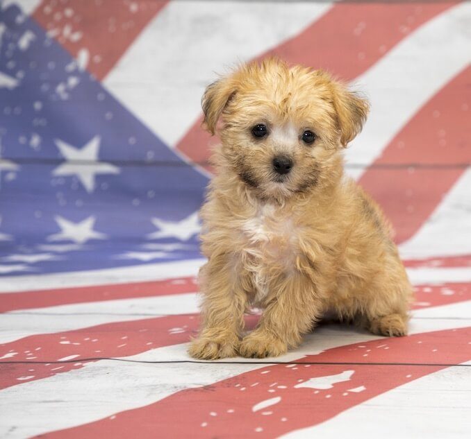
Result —
[[[256,285],[254,302],[270,293],[270,277],[294,269],[297,233],[292,218],[280,214],[273,205],[260,205],[256,215],[242,224],[245,241],[245,268],[253,273]]]

